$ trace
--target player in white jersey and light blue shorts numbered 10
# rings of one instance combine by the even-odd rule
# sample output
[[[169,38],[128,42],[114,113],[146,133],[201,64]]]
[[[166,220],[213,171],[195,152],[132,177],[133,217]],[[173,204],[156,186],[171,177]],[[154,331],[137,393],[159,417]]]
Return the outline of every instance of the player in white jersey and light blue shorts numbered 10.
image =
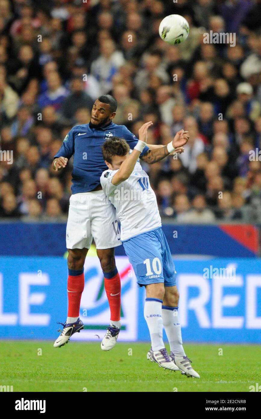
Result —
[[[147,359],[169,370],[199,378],[186,356],[178,321],[178,290],[176,271],[168,242],[161,228],[161,219],[154,191],[138,158],[147,142],[147,122],[139,130],[139,142],[130,153],[124,139],[114,137],[103,143],[103,158],[109,170],[101,175],[101,186],[116,208],[121,222],[121,241],[137,277],[146,287],[144,317],[150,331],[151,349]],[[168,152],[183,151],[189,139],[187,131],[179,131]],[[171,352],[163,343],[165,328]]]

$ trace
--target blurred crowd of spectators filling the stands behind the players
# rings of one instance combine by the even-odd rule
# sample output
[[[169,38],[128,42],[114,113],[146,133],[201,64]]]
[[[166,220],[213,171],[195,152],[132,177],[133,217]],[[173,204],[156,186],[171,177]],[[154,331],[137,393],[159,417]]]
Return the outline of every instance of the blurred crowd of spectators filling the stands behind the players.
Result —
[[[172,46],[158,27],[173,13],[190,34]],[[189,130],[178,158],[144,165],[161,215],[261,223],[261,0],[0,0],[1,218],[66,220],[72,162],[55,173],[53,156],[106,93],[116,124],[152,120],[150,144]]]

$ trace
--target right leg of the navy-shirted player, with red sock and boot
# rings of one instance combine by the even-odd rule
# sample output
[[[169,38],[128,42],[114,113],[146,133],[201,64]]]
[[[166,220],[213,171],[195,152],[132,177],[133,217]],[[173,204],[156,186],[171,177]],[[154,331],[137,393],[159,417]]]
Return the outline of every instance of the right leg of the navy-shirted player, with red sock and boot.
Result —
[[[110,326],[101,342],[101,349],[109,351],[116,345],[121,328],[121,279],[115,265],[114,248],[97,249],[104,275],[104,288],[109,301],[111,318]]]

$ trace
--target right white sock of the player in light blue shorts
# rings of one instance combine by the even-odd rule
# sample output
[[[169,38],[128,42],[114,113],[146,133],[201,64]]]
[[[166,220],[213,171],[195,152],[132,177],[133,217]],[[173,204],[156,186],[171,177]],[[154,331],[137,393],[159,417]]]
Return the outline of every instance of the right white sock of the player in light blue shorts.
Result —
[[[181,326],[178,319],[178,307],[162,306],[163,326],[171,347],[171,352],[178,356],[186,356],[181,337]]]

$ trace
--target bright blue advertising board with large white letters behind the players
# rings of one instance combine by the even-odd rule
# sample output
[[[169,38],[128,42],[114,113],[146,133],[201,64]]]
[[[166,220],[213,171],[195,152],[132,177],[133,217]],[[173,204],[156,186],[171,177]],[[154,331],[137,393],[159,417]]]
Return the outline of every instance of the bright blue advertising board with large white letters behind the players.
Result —
[[[119,341],[149,341],[143,317],[145,291],[126,256],[116,257],[121,275]],[[186,342],[261,341],[261,260],[176,260],[179,320]],[[97,257],[85,261],[77,340],[101,339],[109,304]],[[67,314],[67,261],[62,257],[0,257],[0,338],[55,339]]]

